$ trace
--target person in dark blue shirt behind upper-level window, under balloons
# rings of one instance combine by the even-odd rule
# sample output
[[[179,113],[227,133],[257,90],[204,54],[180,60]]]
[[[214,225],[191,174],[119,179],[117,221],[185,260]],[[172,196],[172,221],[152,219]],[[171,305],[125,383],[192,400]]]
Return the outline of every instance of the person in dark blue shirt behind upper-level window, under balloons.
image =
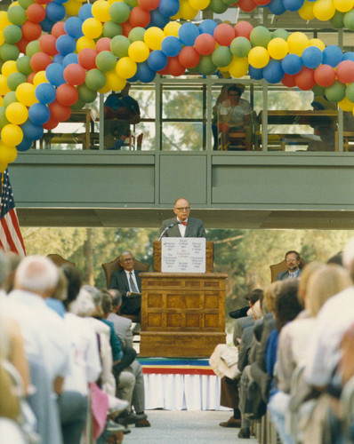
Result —
[[[104,102],[104,147],[120,149],[130,136],[130,125],[141,122],[138,102],[129,95],[130,83],[112,92]]]

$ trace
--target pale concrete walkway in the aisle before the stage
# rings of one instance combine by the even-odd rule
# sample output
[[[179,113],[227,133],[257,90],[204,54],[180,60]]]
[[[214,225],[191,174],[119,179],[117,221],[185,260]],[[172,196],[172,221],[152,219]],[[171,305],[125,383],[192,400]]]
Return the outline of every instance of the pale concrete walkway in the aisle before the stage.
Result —
[[[230,411],[147,410],[151,427],[136,428],[125,435],[123,444],[255,444],[255,439],[240,440],[239,429],[221,427]]]

